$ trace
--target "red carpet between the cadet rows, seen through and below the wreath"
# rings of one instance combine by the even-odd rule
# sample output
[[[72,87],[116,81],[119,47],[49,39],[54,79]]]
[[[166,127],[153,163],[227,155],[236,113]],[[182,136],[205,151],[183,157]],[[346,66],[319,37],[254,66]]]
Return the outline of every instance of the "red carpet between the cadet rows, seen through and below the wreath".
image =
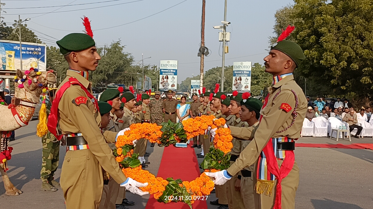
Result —
[[[200,168],[193,148],[189,145],[187,148],[174,146],[164,148],[157,177],[163,179],[173,177],[173,179],[181,179],[182,181],[192,181],[199,176]],[[207,209],[206,200],[195,201],[192,207]],[[182,202],[160,203],[151,195],[145,209],[189,209],[189,206]]]

